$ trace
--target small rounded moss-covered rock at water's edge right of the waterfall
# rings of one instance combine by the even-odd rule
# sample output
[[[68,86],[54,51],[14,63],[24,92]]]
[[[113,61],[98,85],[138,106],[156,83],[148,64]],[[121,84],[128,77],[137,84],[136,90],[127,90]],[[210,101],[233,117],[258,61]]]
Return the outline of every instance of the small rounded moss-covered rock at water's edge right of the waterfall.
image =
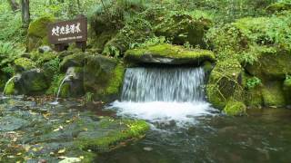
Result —
[[[246,105],[241,101],[228,101],[224,111],[230,116],[246,115]]]

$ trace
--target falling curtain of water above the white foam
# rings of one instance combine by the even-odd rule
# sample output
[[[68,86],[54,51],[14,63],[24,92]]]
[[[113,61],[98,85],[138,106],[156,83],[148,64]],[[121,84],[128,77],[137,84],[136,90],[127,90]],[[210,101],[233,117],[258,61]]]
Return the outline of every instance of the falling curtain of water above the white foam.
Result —
[[[131,68],[125,72],[122,101],[203,101],[202,68]]]

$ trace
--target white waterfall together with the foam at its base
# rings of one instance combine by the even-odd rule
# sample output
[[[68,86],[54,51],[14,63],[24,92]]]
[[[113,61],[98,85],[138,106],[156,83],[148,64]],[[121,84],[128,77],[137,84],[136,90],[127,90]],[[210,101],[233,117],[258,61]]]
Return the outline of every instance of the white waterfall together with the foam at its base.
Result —
[[[209,114],[203,89],[202,68],[130,68],[125,72],[121,101],[109,109],[117,114],[150,122],[194,123]]]

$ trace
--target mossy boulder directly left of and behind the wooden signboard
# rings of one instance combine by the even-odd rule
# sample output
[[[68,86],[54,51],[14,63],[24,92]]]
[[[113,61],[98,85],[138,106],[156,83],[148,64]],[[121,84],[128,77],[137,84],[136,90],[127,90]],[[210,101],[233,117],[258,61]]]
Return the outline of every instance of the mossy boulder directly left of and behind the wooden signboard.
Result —
[[[52,17],[40,17],[29,24],[27,36],[28,43],[27,49],[28,51],[32,51],[33,49],[37,49],[41,45],[48,45],[47,39],[47,30],[46,26],[48,24],[54,23],[55,19]]]

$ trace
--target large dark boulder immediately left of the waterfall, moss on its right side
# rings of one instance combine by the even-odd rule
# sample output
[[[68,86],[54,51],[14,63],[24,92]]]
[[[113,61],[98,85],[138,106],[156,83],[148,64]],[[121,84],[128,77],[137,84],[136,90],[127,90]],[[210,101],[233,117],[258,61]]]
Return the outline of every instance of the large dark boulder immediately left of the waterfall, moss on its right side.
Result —
[[[85,92],[95,94],[95,99],[113,101],[118,99],[125,68],[121,62],[102,55],[89,56],[84,67]]]

